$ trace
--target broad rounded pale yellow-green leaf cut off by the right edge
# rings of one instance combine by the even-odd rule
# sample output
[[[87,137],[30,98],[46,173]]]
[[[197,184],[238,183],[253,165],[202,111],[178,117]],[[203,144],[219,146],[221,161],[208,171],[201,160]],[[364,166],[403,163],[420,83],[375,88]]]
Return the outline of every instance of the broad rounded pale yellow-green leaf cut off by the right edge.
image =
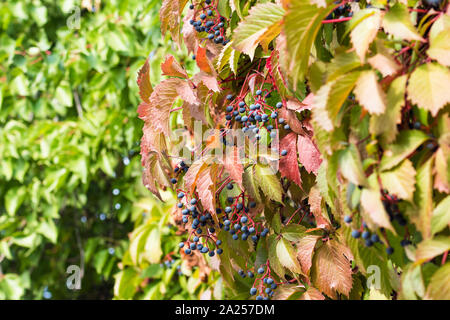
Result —
[[[408,82],[408,97],[414,104],[436,116],[450,102],[450,71],[437,63],[425,63],[413,71]]]

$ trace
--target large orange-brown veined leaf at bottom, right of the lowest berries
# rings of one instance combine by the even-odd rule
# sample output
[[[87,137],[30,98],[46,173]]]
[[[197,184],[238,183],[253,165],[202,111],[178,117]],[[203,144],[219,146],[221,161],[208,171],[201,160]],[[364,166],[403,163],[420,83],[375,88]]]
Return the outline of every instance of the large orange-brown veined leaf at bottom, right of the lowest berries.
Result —
[[[329,240],[314,255],[313,283],[319,290],[336,299],[337,292],[346,296],[352,289],[352,269],[342,246]]]

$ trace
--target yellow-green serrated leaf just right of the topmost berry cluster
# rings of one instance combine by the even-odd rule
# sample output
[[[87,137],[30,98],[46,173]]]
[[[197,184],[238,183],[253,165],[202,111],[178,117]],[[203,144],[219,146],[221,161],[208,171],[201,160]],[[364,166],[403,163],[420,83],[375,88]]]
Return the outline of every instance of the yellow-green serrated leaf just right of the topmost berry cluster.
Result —
[[[258,44],[267,48],[269,42],[280,33],[283,15],[284,9],[274,3],[253,6],[249,15],[234,30],[233,47],[253,60]]]

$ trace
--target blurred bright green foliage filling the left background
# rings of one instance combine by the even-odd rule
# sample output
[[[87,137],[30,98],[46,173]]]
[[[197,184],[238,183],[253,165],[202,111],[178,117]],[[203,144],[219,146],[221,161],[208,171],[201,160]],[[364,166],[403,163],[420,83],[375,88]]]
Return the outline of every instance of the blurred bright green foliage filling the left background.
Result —
[[[160,39],[159,6],[1,2],[0,299],[188,299],[205,289],[173,254],[171,206],[141,182],[137,70],[150,52],[157,83],[166,53],[189,60]],[[129,235],[140,237],[130,250]],[[81,290],[66,286],[70,265],[84,274]]]

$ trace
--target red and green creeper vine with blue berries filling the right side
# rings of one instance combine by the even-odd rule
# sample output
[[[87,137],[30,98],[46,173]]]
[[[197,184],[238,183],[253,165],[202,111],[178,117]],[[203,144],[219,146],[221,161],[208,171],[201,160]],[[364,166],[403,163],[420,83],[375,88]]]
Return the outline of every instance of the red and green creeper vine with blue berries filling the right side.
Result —
[[[168,56],[153,88],[147,62],[138,112],[181,254],[208,253],[234,298],[450,299],[448,10],[164,0],[198,71]]]

